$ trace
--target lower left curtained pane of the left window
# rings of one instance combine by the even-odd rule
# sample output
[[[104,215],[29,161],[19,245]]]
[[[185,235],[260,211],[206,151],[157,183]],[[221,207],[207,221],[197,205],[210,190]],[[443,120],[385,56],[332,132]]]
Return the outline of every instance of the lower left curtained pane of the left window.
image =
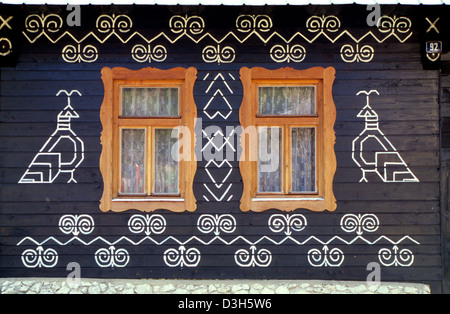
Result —
[[[122,129],[120,157],[120,193],[144,194],[145,129]]]

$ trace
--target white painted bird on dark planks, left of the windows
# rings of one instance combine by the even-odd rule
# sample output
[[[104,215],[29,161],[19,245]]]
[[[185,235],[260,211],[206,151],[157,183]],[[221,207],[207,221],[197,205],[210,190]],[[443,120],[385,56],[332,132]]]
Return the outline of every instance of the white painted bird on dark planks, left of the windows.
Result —
[[[19,183],[53,183],[61,173],[70,174],[67,183],[77,183],[73,176],[84,160],[84,142],[72,131],[71,120],[80,116],[70,105],[70,97],[74,93],[81,96],[81,93],[60,90],[56,96],[62,93],[67,95],[68,104],[58,114],[56,130],[36,154]]]

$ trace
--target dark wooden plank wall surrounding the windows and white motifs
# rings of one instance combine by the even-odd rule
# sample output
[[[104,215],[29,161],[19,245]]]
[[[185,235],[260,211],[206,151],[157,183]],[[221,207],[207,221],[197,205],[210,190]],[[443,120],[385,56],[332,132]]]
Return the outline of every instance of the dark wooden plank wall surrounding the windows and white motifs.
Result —
[[[7,6],[2,7],[2,16],[8,15],[7,9]],[[381,266],[382,281],[425,282],[432,286],[434,292],[441,291],[439,74],[438,71],[425,71],[422,67],[420,27],[425,18],[423,12],[417,7],[384,6],[382,9],[382,13],[392,17],[392,21],[394,17],[410,19],[410,29],[407,32],[395,31],[398,37],[387,38],[387,33],[365,24],[368,12],[363,6],[90,6],[83,7],[81,27],[64,26],[56,33],[47,32],[51,40],[42,36],[30,43],[29,39],[35,39],[40,31],[31,33],[24,28],[29,15],[54,13],[65,19],[67,12],[64,7],[27,6],[20,10],[16,21],[19,27],[18,50],[14,51],[17,64],[1,68],[0,276],[65,277],[69,273],[67,264],[77,262],[84,277],[366,280],[369,274],[367,265],[377,262]],[[70,36],[64,36],[55,43],[52,40],[55,41],[64,31],[78,40],[91,31],[104,39],[105,33],[95,28],[95,21],[102,14],[125,14],[132,19],[131,31],[119,33],[125,39],[137,31],[146,38],[154,38],[163,32],[174,40],[179,35],[171,31],[169,21],[175,15],[200,16],[205,22],[205,29],[200,35],[184,36],[175,43],[164,37],[152,42],[152,46],[162,45],[167,49],[168,56],[163,62],[151,60],[151,63],[139,63],[132,58],[130,52],[133,46],[147,46],[138,36],[126,43],[117,36],[111,36],[105,42],[91,36],[81,43],[81,49],[85,45],[95,46],[98,50],[95,62],[65,62],[61,54],[63,49],[67,45],[77,47],[78,44]],[[304,60],[294,62],[291,59],[290,62],[277,63],[270,57],[270,49],[274,45],[288,45],[278,36],[267,43],[256,35],[242,43],[236,37],[224,37],[230,31],[240,39],[249,34],[236,29],[236,20],[241,15],[267,15],[271,18],[273,26],[270,31],[258,32],[263,38],[276,31],[288,39],[296,32],[312,39],[318,33],[306,28],[311,16],[336,16],[341,25],[337,32],[327,31],[312,42],[296,37],[289,44],[300,44],[306,49]],[[335,41],[330,40],[345,31],[356,39],[362,39],[357,43],[344,34]],[[370,35],[363,38],[369,32],[380,40]],[[220,44],[208,37],[196,42],[206,33],[225,39]],[[359,48],[368,45],[373,48],[374,56],[370,62],[364,62],[368,60],[364,60],[363,56],[354,59],[354,62],[346,62],[340,52],[347,44],[352,45],[353,49],[357,49],[358,45]],[[234,49],[233,62],[205,62],[202,51],[207,46],[218,45]],[[239,81],[241,67],[334,67],[336,81],[333,96],[337,107],[335,151],[338,162],[334,192],[337,210],[334,213],[313,213],[299,209],[290,216],[276,210],[242,213],[239,210],[242,179],[238,162],[230,162],[231,174],[222,186],[217,187],[206,171],[208,161],[204,160],[199,162],[195,177],[198,201],[195,213],[157,211],[154,214],[162,215],[167,223],[162,234],[152,233],[150,238],[144,239],[145,233],[130,232],[128,221],[133,215],[141,213],[102,213],[98,208],[103,189],[99,171],[102,149],[99,110],[104,94],[100,71],[103,67],[116,66],[130,69],[148,66],[161,69],[196,67],[198,79],[194,97],[204,129],[210,125],[224,129],[225,126],[239,125],[238,110],[243,92]],[[203,112],[213,96],[211,91],[206,91],[215,78],[217,80],[211,90],[223,91],[232,107],[227,120],[220,115],[211,120]],[[68,184],[66,182],[70,177],[61,175],[51,184],[19,184],[34,156],[54,132],[57,115],[67,104],[65,96],[56,97],[60,90],[78,90],[82,94],[81,97],[74,95],[71,98],[72,106],[80,117],[72,120],[72,130],[85,146],[85,159],[74,172],[78,183]],[[364,130],[364,120],[357,118],[366,105],[365,97],[356,95],[362,90],[376,90],[380,94],[372,94],[370,98],[370,104],[379,116],[380,130],[420,182],[383,182],[372,175],[367,176],[369,182],[359,182],[362,172],[352,159],[352,141]],[[208,113],[214,113],[210,109],[217,109],[223,115],[229,113],[226,104],[220,100],[215,100],[208,109]],[[233,140],[236,148],[236,138]],[[208,140],[203,139],[202,145],[207,143]],[[236,154],[234,157],[236,159]],[[221,181],[229,168],[217,169],[210,165],[208,170],[216,180]],[[211,193],[220,201],[216,201]],[[287,238],[286,234],[274,232],[268,225],[275,214],[282,214],[286,221],[294,214],[301,214],[307,226],[302,231],[294,231],[291,238],[283,241]],[[95,228],[89,234],[65,234],[58,226],[64,215],[78,215],[79,218],[80,215],[88,215],[94,221]],[[202,233],[197,226],[202,215],[231,215],[236,221],[236,229],[232,233],[219,229],[219,238],[215,238],[214,233]],[[346,232],[341,222],[350,217],[359,223],[365,217],[376,217],[378,228],[370,232],[360,226],[359,233],[357,230]],[[112,250],[119,249],[125,249],[128,253],[126,267],[120,267],[119,260],[115,260],[115,267],[101,267],[95,258],[101,252],[99,250],[111,254]],[[194,252],[201,254],[200,262],[196,267],[188,267],[188,256],[185,254],[184,267],[169,267],[164,254],[170,249],[178,250],[180,256],[185,252],[183,250],[196,249]],[[31,256],[41,261],[35,264],[36,267],[30,267],[32,263],[28,263],[27,267],[24,262],[27,250],[31,250]],[[55,265],[51,258],[50,262],[45,259],[43,252],[46,250],[57,253]],[[257,263],[243,267],[235,259],[239,250],[249,253],[266,250],[260,252],[270,252],[271,263],[262,265],[268,267],[260,267]],[[313,252],[321,254],[321,261],[315,265],[311,263]],[[336,256],[332,253],[336,252],[337,260],[333,261]],[[392,263],[381,259],[382,252],[391,254]],[[406,257],[406,261],[402,262],[402,257]],[[109,258],[113,259],[111,256]],[[258,256],[253,258],[258,261]],[[409,264],[411,258],[413,262]],[[328,263],[324,262],[326,260]]]

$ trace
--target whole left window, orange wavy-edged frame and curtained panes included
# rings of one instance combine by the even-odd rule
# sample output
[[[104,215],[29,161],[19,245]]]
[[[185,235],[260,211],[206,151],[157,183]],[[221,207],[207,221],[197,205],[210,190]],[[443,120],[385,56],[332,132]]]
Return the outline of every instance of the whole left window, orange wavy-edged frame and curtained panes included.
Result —
[[[195,211],[196,74],[194,68],[102,70],[102,211]]]

